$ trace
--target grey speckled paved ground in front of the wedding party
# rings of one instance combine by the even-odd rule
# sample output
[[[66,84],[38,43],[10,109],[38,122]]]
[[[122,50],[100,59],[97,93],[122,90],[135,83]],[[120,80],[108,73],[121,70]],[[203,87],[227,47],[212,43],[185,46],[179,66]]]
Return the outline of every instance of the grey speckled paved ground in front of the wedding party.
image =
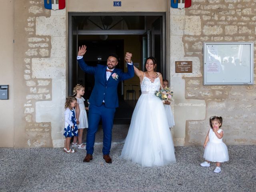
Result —
[[[112,145],[112,164],[82,162],[85,150],[0,148],[0,192],[255,192],[256,146],[228,146],[230,161],[222,172],[200,167],[204,149],[176,147],[176,164],[141,168],[119,158],[123,144]]]

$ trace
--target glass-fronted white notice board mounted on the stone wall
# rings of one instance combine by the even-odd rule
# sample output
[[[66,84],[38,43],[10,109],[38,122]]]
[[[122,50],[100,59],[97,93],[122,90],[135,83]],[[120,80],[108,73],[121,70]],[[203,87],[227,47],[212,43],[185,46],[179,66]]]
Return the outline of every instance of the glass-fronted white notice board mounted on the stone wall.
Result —
[[[204,42],[204,85],[252,85],[253,48],[253,42]]]

